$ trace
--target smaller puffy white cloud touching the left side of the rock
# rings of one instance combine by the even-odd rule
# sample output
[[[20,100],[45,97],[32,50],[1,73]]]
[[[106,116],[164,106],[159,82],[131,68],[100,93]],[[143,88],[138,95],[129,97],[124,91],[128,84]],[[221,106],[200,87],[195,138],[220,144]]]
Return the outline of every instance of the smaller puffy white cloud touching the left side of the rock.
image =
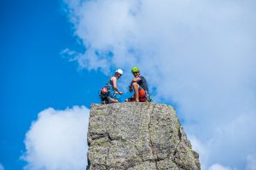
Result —
[[[73,106],[65,111],[41,111],[26,133],[25,169],[84,169],[89,110]]]

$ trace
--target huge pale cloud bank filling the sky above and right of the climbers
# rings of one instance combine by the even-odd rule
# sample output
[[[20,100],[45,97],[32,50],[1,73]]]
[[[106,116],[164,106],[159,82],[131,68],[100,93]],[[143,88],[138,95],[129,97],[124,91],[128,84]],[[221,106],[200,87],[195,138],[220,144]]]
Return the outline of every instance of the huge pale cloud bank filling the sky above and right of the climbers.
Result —
[[[186,132],[204,145],[206,168],[246,167],[256,153],[256,1],[66,3],[85,48],[73,58],[82,68],[122,68],[128,82],[139,66],[154,100],[175,102]]]

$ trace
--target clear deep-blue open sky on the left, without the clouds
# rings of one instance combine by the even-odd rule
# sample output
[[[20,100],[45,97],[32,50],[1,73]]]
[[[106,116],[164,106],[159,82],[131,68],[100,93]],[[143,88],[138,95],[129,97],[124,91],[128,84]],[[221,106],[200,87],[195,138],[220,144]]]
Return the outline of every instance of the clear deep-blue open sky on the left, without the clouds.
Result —
[[[1,2],[0,163],[21,169],[26,131],[38,112],[98,102],[108,77],[61,57],[77,48],[61,1]],[[90,84],[88,83],[90,79]]]

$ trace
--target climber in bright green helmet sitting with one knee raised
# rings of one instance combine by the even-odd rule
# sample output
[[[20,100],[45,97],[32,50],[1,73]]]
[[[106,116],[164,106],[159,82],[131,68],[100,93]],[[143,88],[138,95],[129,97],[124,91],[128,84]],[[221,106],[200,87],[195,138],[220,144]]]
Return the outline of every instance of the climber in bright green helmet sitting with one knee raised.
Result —
[[[139,68],[137,66],[132,67],[131,73],[135,77],[132,79],[129,86],[129,91],[134,91],[134,94],[129,99],[125,99],[126,102],[137,101],[145,102],[152,101],[148,94],[148,84],[145,77],[141,76]]]

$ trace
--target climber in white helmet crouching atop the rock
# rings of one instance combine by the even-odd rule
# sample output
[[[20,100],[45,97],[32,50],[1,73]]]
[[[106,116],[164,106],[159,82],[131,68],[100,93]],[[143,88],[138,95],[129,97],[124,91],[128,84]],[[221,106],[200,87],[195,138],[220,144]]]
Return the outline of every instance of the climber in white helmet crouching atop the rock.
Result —
[[[123,71],[118,69],[114,71],[114,76],[106,83],[106,85],[100,91],[100,99],[102,104],[118,103],[120,102],[120,95],[123,92],[119,91],[117,87],[117,80],[123,75]]]

